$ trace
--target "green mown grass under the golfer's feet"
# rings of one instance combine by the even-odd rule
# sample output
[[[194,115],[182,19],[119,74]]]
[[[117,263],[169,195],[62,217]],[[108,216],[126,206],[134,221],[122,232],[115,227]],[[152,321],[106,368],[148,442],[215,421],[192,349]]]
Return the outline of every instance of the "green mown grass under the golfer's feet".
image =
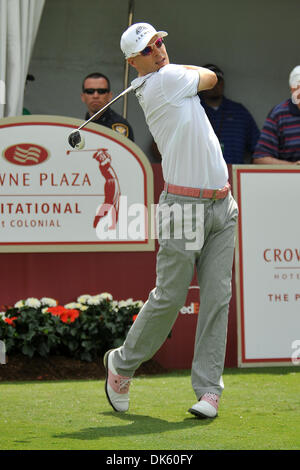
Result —
[[[115,413],[104,381],[1,383],[1,450],[300,448],[300,368],[227,369],[219,416],[199,420],[189,371],[137,377]]]

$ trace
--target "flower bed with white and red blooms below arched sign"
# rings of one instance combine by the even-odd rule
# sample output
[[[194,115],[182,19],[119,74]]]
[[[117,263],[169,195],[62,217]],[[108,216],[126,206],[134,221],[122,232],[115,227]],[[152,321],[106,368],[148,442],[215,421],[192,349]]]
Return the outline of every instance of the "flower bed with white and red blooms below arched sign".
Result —
[[[81,295],[59,305],[55,299],[28,298],[0,312],[0,339],[8,354],[62,355],[93,361],[120,346],[143,302],[115,301],[111,294]]]

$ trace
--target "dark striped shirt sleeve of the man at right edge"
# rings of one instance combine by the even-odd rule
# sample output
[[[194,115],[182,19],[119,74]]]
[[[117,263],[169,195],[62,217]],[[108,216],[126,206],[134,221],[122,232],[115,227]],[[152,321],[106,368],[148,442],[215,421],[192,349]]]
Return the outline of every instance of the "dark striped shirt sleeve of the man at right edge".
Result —
[[[253,158],[263,157],[279,158],[278,126],[274,113],[271,111],[267,116],[261,130]]]

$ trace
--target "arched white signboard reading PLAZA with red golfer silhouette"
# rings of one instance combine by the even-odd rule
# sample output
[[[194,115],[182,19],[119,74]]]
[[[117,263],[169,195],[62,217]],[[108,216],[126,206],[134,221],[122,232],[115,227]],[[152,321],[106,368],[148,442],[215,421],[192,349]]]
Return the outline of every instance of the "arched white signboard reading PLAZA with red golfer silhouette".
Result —
[[[0,251],[147,251],[153,174],[129,139],[59,116],[0,120]]]

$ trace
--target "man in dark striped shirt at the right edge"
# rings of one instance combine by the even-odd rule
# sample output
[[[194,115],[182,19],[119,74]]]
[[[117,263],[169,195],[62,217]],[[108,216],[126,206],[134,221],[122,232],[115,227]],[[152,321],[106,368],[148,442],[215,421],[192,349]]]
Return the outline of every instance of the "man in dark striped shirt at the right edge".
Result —
[[[255,164],[300,164],[300,65],[290,73],[291,98],[268,114],[253,155]]]

